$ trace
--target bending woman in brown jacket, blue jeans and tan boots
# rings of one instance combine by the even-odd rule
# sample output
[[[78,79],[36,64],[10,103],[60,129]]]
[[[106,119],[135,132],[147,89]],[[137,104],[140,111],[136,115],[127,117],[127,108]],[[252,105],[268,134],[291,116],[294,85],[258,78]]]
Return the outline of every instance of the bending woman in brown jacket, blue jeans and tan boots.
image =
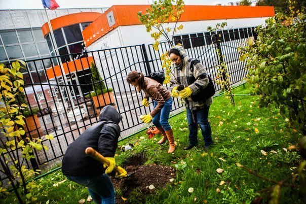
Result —
[[[152,121],[163,135],[158,144],[164,144],[168,139],[170,146],[168,153],[174,152],[176,145],[172,128],[168,122],[173,101],[171,93],[162,84],[154,79],[144,77],[140,72],[130,72],[127,76],[127,82],[136,86],[137,91],[143,90],[145,97],[142,100],[142,105],[149,106],[149,97],[154,100],[153,110],[149,114],[141,116],[140,119],[145,123]]]

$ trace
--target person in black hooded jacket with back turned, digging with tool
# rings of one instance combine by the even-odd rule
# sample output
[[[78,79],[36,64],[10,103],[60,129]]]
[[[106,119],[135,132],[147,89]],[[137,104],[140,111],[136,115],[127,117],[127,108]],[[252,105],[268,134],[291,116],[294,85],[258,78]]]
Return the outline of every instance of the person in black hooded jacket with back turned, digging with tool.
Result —
[[[72,142],[62,160],[62,173],[71,181],[88,187],[96,203],[115,203],[114,187],[108,175],[116,165],[116,152],[120,135],[119,122],[122,116],[112,106],[105,106],[99,116],[99,122],[86,129]],[[92,147],[110,163],[105,169],[100,162],[85,154],[85,149]],[[118,177],[127,177],[127,172],[120,166]]]

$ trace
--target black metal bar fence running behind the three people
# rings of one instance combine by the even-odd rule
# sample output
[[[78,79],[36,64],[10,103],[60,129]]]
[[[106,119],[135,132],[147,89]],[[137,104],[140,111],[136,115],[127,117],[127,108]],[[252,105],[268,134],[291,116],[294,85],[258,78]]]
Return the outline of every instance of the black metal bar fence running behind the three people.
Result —
[[[248,73],[245,63],[239,61],[237,48],[251,36],[256,38],[254,27],[191,33],[187,37],[174,37],[174,43],[181,43],[189,56],[199,59],[213,80],[216,66],[220,61],[225,62],[235,84]],[[161,71],[160,56],[169,48],[169,43],[161,43],[160,49],[155,51],[152,45],[143,44],[26,61],[25,98],[33,115],[26,121],[26,135],[42,139],[42,144],[48,147],[48,151],[34,151],[35,158],[27,165],[41,169],[59,165],[67,146],[98,121],[101,108],[108,104],[123,116],[122,138],[146,127],[139,116],[148,114],[152,103],[149,108],[143,107],[143,94],[125,78],[132,70],[145,75]],[[215,52],[217,48],[221,58]],[[220,90],[219,85],[214,85]],[[103,94],[97,99],[95,95],[99,93]],[[175,99],[172,113],[182,109],[180,100]],[[46,134],[53,134],[54,139],[46,140]],[[0,176],[1,180],[5,179]]]

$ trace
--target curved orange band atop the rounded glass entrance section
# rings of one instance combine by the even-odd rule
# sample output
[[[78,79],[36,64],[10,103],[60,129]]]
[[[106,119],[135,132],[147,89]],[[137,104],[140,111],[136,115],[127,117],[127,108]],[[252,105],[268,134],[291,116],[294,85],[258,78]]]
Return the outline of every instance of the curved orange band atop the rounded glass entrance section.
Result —
[[[98,12],[82,12],[82,13],[75,13],[75,14],[68,14],[65,16],[61,16],[61,17],[51,20],[50,22],[51,22],[52,29],[57,30],[61,27],[65,27],[65,26],[69,26],[73,24],[93,22],[101,15],[102,14]],[[48,22],[42,26],[42,30],[43,30],[44,36],[46,36],[50,32]]]

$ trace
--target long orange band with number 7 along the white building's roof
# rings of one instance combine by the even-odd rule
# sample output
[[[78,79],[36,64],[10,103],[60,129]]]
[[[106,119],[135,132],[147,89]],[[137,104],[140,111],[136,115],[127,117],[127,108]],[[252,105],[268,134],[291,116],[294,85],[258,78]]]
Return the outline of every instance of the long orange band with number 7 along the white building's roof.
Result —
[[[104,36],[111,29],[125,25],[139,25],[137,13],[142,11],[146,13],[148,5],[115,5],[110,7],[103,16],[97,18],[85,30],[83,30],[86,46]],[[106,16],[109,12],[113,13],[116,23],[108,26]],[[217,19],[237,19],[237,18],[257,18],[272,17],[275,15],[274,7],[269,6],[185,6],[185,12],[182,14],[180,22],[217,20]],[[100,32],[101,29],[103,32]],[[99,32],[97,34],[97,32]]]

